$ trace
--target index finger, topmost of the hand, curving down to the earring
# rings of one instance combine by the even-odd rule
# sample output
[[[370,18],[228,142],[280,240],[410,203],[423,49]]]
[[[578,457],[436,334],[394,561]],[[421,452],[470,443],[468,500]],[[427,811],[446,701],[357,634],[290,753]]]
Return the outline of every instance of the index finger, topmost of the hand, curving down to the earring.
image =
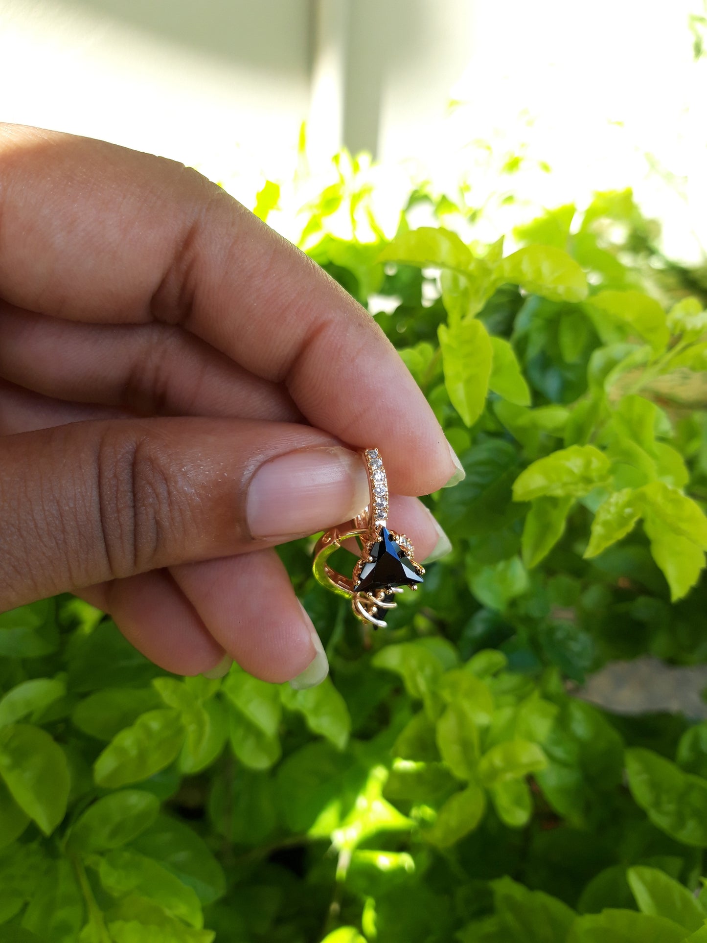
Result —
[[[313,425],[384,447],[395,490],[431,491],[456,472],[431,408],[370,315],[198,174],[5,125],[0,184],[0,295],[11,304],[79,321],[180,324],[284,383]]]

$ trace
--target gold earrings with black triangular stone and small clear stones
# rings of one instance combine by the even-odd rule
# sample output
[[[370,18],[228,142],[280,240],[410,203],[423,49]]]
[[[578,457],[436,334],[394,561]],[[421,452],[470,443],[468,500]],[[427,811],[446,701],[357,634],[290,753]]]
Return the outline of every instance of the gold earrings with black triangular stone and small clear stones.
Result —
[[[339,524],[321,536],[314,548],[314,575],[322,586],[351,600],[354,616],[375,628],[386,628],[381,618],[397,605],[394,596],[403,587],[417,589],[424,568],[415,562],[410,538],[387,528],[388,491],[386,470],[378,449],[363,453],[369,477],[369,504],[353,521]],[[360,559],[350,577],[326,562],[345,540],[357,538]]]

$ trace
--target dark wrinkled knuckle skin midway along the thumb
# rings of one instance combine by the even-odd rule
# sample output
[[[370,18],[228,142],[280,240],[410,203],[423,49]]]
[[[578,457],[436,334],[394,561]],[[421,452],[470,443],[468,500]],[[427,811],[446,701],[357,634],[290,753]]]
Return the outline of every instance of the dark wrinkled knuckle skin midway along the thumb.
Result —
[[[114,577],[173,562],[186,543],[189,488],[176,478],[164,440],[110,429],[98,454],[99,514]]]

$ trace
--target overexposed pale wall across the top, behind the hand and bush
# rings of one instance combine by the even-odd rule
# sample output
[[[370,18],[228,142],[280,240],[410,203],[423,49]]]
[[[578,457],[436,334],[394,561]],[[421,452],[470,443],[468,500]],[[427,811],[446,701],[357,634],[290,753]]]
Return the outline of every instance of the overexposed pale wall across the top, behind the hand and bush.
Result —
[[[696,264],[704,25],[703,0],[2,0],[0,110],[177,158],[250,205],[294,173],[303,122],[322,172],[345,145],[472,176],[477,205],[514,172],[516,217],[632,186]]]

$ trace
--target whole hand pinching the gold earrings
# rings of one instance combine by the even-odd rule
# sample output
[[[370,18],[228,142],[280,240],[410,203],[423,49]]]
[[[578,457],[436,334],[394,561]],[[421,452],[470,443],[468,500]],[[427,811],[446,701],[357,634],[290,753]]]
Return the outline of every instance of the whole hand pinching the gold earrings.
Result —
[[[370,315],[196,172],[0,124],[0,610],[71,590],[163,668],[326,658],[270,548],[457,472]]]

